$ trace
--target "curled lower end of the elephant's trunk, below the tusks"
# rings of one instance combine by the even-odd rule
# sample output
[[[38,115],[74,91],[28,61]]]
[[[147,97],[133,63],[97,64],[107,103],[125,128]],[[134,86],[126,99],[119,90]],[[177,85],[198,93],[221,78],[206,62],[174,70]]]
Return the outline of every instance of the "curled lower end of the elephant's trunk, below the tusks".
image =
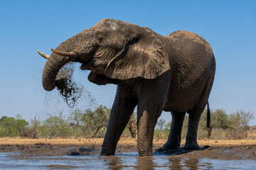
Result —
[[[55,79],[59,70],[70,61],[69,57],[55,54],[50,55],[43,68],[42,76],[43,88],[46,89],[46,91],[52,91],[55,88]]]

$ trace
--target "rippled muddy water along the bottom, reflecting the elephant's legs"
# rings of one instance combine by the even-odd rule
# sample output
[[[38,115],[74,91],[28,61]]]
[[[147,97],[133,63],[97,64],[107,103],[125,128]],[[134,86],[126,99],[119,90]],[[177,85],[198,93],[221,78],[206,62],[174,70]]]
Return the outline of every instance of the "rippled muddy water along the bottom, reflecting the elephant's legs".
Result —
[[[255,169],[255,160],[189,159],[172,156],[138,157],[126,152],[111,157],[100,154],[58,157],[12,158],[16,153],[0,152],[0,169]]]

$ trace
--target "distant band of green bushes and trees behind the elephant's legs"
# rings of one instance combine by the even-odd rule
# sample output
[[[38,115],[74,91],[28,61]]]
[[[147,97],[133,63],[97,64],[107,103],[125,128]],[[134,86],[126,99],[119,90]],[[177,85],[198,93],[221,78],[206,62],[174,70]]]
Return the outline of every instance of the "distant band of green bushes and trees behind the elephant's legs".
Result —
[[[63,113],[48,115],[45,120],[31,119],[30,123],[16,115],[16,118],[2,116],[0,118],[0,137],[104,137],[107,129],[110,108],[99,106],[94,111],[87,109],[73,111],[68,116]],[[237,111],[226,114],[223,109],[211,111],[210,128],[206,128],[206,111],[201,115],[198,126],[198,139],[256,139],[256,132],[248,123],[253,118],[250,112]],[[159,119],[154,131],[155,138],[167,138],[171,122]],[[182,138],[186,138],[188,115],[183,123]],[[137,114],[132,117],[122,137],[136,137]]]

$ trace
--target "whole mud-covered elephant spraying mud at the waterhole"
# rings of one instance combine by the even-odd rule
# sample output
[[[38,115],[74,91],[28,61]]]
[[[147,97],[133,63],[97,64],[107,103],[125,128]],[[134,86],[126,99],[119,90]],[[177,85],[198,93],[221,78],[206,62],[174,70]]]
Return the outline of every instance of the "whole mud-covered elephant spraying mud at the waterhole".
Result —
[[[55,88],[59,70],[79,62],[90,70],[94,84],[117,84],[101,155],[114,155],[134,108],[137,106],[137,150],[152,155],[154,128],[162,111],[172,115],[169,139],[161,149],[181,147],[181,129],[189,115],[187,149],[198,149],[197,130],[201,113],[215,77],[215,57],[206,40],[196,33],[177,30],[164,36],[150,28],[124,21],[102,19],[60,43],[47,59],[42,84]]]

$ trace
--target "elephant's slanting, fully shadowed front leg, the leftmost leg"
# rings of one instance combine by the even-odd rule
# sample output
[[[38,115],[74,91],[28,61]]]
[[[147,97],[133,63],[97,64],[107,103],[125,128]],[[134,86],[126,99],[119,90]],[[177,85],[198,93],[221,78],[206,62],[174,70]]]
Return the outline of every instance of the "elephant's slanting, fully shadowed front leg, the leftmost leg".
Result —
[[[119,137],[122,135],[135,106],[137,106],[137,97],[132,91],[118,84],[102,145],[102,155],[114,155]]]

